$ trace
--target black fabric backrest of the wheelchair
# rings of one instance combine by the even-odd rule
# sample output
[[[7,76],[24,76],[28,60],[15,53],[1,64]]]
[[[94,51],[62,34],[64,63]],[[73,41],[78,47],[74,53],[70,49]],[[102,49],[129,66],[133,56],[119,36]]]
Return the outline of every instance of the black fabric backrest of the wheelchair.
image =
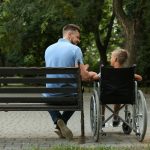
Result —
[[[101,67],[100,101],[102,104],[135,103],[135,67]]]

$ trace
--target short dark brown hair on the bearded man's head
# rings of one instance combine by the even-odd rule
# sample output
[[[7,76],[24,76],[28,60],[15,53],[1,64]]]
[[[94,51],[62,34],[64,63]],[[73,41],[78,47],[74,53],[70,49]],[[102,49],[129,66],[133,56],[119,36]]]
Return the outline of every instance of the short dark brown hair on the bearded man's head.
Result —
[[[75,24],[67,24],[63,27],[63,35],[66,33],[66,31],[78,31],[80,33],[80,27]]]

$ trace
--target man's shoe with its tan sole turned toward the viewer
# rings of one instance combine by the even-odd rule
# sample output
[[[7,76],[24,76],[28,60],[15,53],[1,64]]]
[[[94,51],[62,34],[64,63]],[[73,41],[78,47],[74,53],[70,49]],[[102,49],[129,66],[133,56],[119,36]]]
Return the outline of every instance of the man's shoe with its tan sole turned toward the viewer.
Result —
[[[66,124],[64,123],[64,121],[62,119],[57,120],[57,125],[58,125],[62,135],[66,139],[68,139],[68,140],[73,139],[73,134],[72,134],[71,130],[66,126]]]

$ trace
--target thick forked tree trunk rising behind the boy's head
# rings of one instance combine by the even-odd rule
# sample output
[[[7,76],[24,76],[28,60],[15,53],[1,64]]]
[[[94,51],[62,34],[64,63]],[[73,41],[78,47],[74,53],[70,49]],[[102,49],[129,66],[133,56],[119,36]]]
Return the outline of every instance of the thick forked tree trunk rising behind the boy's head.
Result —
[[[140,41],[140,19],[143,11],[141,6],[144,5],[145,1],[141,0],[140,2],[134,19],[129,19],[123,10],[123,0],[113,0],[114,13],[125,31],[125,49],[130,53],[129,65],[136,63],[136,53],[139,45],[138,42]]]

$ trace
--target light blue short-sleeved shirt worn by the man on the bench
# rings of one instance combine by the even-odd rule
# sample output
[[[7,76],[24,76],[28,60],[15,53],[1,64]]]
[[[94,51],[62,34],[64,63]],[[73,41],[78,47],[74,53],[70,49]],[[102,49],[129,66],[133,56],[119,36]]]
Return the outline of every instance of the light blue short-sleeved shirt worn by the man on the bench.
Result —
[[[75,67],[78,63],[83,64],[83,55],[81,49],[72,44],[67,39],[59,39],[57,43],[50,45],[45,51],[46,67]],[[71,75],[47,75],[53,78],[71,78]],[[46,87],[64,87],[73,86],[64,84],[46,84]],[[45,93],[45,96],[52,96],[51,93]]]

